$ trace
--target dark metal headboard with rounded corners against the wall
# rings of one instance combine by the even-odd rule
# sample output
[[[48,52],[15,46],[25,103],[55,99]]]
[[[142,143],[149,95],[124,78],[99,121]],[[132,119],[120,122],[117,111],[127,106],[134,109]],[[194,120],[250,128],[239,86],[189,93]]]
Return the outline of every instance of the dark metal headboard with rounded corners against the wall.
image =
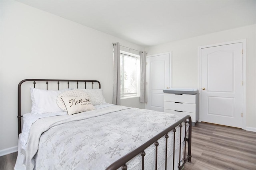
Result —
[[[58,90],[59,90],[59,85],[60,82],[66,82],[67,83],[67,88],[69,87],[70,82],[76,82],[76,88],[78,88],[78,84],[79,83],[83,83],[83,88],[86,88],[86,83],[87,82],[91,82],[92,84],[92,88],[94,88],[94,83],[98,83],[98,88],[100,88],[100,82],[97,80],[58,80],[58,79],[25,79],[20,81],[20,83],[18,84],[18,134],[21,133],[21,85],[24,82],[33,82],[33,86],[34,88],[36,88],[36,82],[45,82],[46,83],[46,90],[48,90],[48,82],[56,82],[56,86],[58,86]]]

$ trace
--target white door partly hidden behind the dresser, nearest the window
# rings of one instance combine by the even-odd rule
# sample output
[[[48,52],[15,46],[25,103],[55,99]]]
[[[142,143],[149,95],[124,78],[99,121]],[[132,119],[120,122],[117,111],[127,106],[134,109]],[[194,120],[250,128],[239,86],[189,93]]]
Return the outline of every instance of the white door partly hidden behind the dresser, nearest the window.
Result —
[[[147,97],[146,109],[164,111],[165,88],[170,87],[170,55],[147,57]]]

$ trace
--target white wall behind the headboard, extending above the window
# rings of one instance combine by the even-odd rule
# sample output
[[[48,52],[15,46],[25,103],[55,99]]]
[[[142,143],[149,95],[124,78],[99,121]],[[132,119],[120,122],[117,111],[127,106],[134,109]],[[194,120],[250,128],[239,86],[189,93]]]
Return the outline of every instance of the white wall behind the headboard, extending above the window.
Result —
[[[18,144],[17,86],[26,78],[99,80],[112,103],[112,43],[143,47],[16,1],[0,1],[0,154]]]

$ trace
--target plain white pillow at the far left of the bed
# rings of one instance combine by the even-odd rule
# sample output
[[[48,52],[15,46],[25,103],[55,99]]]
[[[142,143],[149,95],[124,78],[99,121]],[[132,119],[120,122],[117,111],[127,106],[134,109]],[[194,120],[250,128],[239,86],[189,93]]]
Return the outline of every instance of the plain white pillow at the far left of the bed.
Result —
[[[65,90],[43,90],[37,88],[30,88],[32,107],[31,113],[41,114],[49,112],[63,111],[57,104],[57,96],[70,89]]]

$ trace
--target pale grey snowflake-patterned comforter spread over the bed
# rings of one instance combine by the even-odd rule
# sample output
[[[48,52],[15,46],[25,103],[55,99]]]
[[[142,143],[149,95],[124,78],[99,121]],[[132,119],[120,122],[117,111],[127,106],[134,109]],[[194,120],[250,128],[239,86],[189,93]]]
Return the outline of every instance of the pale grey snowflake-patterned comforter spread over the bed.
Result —
[[[124,106],[38,119],[30,128],[24,164],[27,170],[104,170],[179,119],[170,113]],[[168,156],[172,154],[171,139],[172,133]],[[165,142],[158,142],[160,152]],[[154,147],[145,152],[145,169],[154,169]],[[160,158],[164,160],[164,154],[159,153]],[[141,156],[135,157],[128,169],[140,169],[140,162]],[[158,167],[162,163],[158,160]]]

